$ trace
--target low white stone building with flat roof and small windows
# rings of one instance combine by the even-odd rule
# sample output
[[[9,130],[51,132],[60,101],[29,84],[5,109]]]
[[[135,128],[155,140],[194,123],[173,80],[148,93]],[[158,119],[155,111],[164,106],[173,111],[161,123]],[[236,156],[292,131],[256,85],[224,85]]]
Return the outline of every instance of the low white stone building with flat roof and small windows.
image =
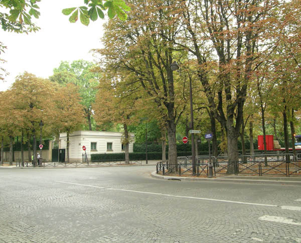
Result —
[[[133,152],[134,133],[129,132],[129,152]],[[69,134],[69,160],[82,160],[83,146],[90,159],[93,153],[124,152],[121,143],[122,132],[115,131],[74,131]],[[67,148],[67,133],[60,133],[59,148]],[[65,151],[67,154],[67,150]]]

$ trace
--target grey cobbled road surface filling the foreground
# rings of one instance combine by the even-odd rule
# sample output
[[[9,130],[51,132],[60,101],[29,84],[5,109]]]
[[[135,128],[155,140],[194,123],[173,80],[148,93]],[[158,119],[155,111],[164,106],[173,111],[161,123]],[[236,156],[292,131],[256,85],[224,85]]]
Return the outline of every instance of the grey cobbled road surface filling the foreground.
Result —
[[[154,170],[0,168],[0,243],[301,243],[301,186],[162,180]]]

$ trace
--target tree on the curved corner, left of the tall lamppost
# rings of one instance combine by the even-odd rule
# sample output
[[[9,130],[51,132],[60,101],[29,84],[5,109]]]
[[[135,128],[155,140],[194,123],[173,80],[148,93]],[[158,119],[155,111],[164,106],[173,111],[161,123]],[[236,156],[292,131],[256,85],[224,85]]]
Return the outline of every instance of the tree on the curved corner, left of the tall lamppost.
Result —
[[[131,75],[127,90],[143,90],[156,103],[168,128],[169,169],[177,169],[176,125],[185,109],[179,74],[173,73],[174,39],[179,21],[170,1],[131,1],[127,23],[110,20],[105,48],[95,50],[111,70]],[[114,40],[114,41],[112,41]],[[179,57],[181,58],[181,57]]]

